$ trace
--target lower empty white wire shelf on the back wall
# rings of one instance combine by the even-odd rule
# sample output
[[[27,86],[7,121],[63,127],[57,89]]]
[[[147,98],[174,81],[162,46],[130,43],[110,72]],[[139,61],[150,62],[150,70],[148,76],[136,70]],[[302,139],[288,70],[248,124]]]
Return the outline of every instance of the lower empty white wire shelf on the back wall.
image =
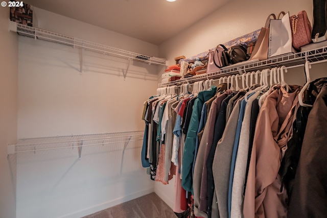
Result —
[[[8,145],[7,154],[17,154],[24,152],[49,151],[57,149],[75,149],[79,151],[81,157],[82,147],[104,146],[107,144],[124,142],[125,151],[131,141],[143,140],[144,131],[101,133],[89,135],[69,135],[41,138],[19,139],[16,144]]]

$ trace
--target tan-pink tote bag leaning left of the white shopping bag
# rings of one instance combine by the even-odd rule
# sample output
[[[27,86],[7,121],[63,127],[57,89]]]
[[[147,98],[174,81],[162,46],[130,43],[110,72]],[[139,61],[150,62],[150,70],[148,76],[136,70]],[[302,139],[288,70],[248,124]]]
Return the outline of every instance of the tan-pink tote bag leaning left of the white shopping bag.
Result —
[[[268,58],[269,24],[271,17],[276,19],[275,14],[270,14],[265,27],[261,28],[258,40],[256,40],[253,52],[249,60],[266,60]]]

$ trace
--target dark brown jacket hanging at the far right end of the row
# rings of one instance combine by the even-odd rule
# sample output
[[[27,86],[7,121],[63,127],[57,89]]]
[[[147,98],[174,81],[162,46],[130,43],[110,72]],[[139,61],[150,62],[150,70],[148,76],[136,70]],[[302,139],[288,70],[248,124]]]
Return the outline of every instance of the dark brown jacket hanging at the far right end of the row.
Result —
[[[312,82],[314,105],[305,136],[288,217],[326,217],[327,214],[327,78]]]

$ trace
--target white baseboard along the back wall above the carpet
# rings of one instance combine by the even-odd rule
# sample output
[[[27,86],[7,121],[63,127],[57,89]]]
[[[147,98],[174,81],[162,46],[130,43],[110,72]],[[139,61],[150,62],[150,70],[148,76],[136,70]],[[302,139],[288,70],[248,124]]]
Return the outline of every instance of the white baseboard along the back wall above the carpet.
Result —
[[[73,213],[69,213],[69,214],[60,216],[60,218],[80,218],[82,216],[86,216],[86,215],[89,215],[89,214],[92,214],[92,213],[107,209],[109,207],[113,207],[115,205],[119,205],[121,203],[124,203],[124,202],[130,201],[130,200],[133,200],[133,199],[148,195],[149,193],[152,193],[152,192],[154,192],[153,187],[148,188],[148,189],[144,189],[144,190],[141,190],[141,191],[136,191],[134,193],[131,193],[131,194],[129,194],[127,196],[124,196],[124,197],[121,197],[121,198],[117,198],[117,199],[114,199],[114,200],[111,200],[111,201],[108,201],[108,202],[104,202],[102,204],[98,204],[98,205],[95,205],[95,206],[92,206],[92,207],[89,207],[89,208],[85,208],[83,210],[79,210],[79,211],[76,211],[76,212],[73,212]]]

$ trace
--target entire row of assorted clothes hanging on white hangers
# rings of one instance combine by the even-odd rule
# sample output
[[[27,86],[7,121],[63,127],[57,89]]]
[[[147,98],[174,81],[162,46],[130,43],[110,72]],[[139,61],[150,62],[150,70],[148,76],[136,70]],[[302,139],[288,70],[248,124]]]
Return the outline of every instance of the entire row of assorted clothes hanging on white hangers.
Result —
[[[317,128],[327,128],[326,84],[320,78],[305,92],[311,111],[299,105],[301,87],[294,85],[287,90],[263,83],[239,91],[217,86],[194,97],[152,97],[142,114],[142,165],[152,166],[164,184],[175,174],[176,213],[319,217],[327,213],[327,172],[321,168],[327,135],[316,135]]]

